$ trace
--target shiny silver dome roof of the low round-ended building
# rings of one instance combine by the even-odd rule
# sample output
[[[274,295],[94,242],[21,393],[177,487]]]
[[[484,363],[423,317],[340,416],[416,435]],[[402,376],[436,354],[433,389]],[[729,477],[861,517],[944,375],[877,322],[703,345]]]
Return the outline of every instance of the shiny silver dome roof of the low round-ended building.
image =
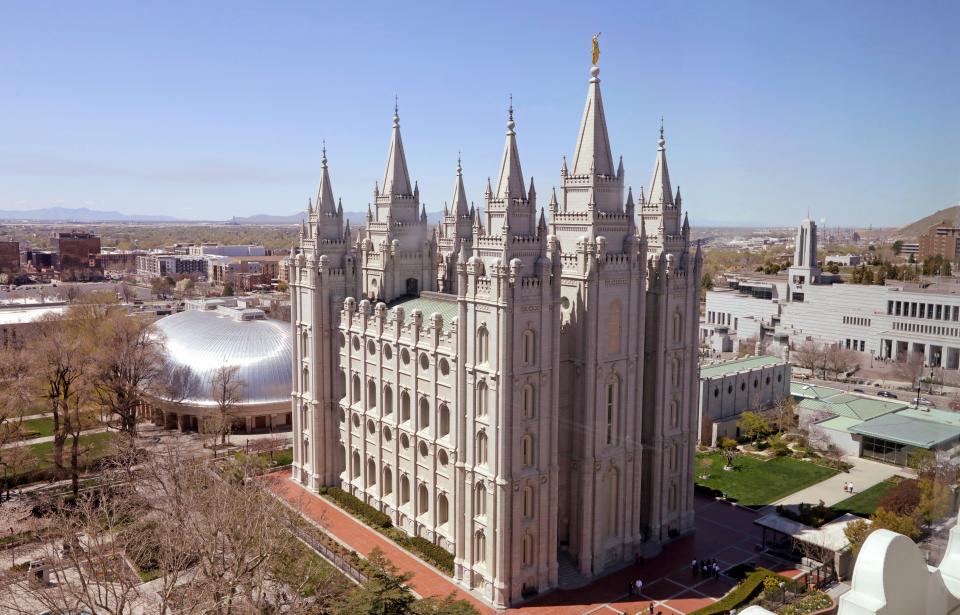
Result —
[[[293,370],[289,323],[241,320],[230,312],[188,310],[154,323],[163,336],[171,373],[178,370],[179,378],[192,383],[181,403],[215,406],[210,384],[224,364],[239,367],[242,405],[289,401]]]

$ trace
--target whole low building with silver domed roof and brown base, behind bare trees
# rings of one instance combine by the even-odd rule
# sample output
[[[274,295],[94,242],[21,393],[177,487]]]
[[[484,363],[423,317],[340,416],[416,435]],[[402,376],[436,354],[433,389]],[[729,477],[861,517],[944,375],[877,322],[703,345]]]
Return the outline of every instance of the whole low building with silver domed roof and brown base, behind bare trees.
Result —
[[[236,366],[239,401],[230,412],[233,432],[289,428],[292,355],[290,326],[256,308],[199,303],[198,309],[161,318],[171,385],[151,398],[150,413],[168,429],[199,430],[218,412],[213,379]]]

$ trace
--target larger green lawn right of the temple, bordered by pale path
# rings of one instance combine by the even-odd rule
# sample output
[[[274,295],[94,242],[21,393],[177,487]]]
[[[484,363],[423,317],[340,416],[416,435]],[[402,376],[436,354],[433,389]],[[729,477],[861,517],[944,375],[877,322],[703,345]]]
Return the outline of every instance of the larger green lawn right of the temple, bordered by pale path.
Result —
[[[699,465],[703,458],[710,459],[709,478],[701,479],[704,473]],[[740,455],[734,462],[734,470],[723,469],[720,453],[697,455],[697,484],[722,491],[730,500],[743,506],[762,506],[800,491],[810,485],[826,480],[837,470],[800,461],[792,457],[774,457],[760,460]]]

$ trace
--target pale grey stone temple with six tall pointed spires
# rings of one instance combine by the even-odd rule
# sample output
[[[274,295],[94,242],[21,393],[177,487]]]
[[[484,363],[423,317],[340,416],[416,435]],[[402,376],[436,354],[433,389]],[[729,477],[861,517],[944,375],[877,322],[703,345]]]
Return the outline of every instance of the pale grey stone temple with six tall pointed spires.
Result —
[[[324,151],[291,258],[294,479],[449,550],[498,607],[693,529],[701,254],[662,128],[646,195],[625,187],[599,72],[546,207],[511,105],[484,211],[458,161],[432,227],[395,112],[364,227]]]

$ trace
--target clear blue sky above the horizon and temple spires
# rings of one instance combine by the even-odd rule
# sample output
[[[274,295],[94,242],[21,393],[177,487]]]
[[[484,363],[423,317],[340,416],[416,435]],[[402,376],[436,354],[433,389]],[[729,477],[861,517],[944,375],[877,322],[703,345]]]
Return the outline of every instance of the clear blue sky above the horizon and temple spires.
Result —
[[[602,10],[599,8],[602,7]],[[546,204],[590,37],[628,183],[660,117],[691,221],[899,225],[960,201],[960,3],[5,2],[0,209],[365,210],[394,95],[429,210],[462,151],[478,204],[514,96]]]

